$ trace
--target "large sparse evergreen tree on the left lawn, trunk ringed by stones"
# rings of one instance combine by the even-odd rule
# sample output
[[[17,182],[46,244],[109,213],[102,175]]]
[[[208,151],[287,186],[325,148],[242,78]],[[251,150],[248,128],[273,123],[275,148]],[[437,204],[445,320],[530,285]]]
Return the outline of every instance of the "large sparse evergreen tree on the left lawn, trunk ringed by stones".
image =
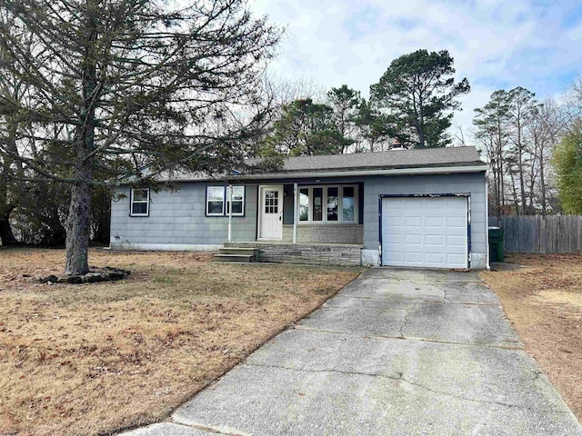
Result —
[[[262,127],[261,73],[280,32],[246,0],[2,0],[0,10],[0,72],[27,89],[0,94],[0,115],[32,126],[18,154],[5,142],[0,152],[70,186],[67,273],[88,271],[96,173],[214,173]]]

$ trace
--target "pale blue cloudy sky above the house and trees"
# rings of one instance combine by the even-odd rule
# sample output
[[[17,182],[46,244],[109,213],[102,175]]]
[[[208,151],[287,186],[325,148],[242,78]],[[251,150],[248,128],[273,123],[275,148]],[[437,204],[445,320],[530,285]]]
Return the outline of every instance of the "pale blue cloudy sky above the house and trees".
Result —
[[[524,86],[543,99],[582,73],[582,2],[575,0],[251,0],[286,26],[272,69],[325,89],[347,84],[369,94],[392,60],[446,49],[457,79],[467,77],[456,123],[465,133],[473,109],[496,89]]]

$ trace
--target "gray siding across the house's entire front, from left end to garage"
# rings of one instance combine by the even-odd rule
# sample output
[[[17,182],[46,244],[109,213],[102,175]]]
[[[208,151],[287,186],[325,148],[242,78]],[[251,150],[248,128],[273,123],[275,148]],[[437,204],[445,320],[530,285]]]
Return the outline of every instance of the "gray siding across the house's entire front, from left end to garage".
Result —
[[[285,184],[284,224],[293,223],[293,181],[260,181],[246,184],[245,216],[233,217],[233,242],[256,241],[259,184]],[[379,245],[378,196],[381,194],[469,193],[471,198],[471,252],[487,253],[486,184],[483,173],[363,176],[300,180],[300,184],[362,183],[359,189],[359,220],[363,223],[366,250]],[[206,186],[217,183],[176,183],[177,190],[150,191],[149,216],[129,216],[130,189],[112,202],[111,243],[220,245],[227,239],[228,217],[206,216]],[[115,236],[119,236],[115,238]]]

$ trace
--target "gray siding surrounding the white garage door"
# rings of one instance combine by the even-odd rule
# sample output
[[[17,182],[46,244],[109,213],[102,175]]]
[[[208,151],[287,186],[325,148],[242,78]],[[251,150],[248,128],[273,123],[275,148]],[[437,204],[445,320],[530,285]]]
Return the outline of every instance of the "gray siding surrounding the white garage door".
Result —
[[[483,173],[372,176],[364,182],[364,247],[379,244],[378,196],[381,194],[469,193],[471,252],[487,253],[486,184]]]

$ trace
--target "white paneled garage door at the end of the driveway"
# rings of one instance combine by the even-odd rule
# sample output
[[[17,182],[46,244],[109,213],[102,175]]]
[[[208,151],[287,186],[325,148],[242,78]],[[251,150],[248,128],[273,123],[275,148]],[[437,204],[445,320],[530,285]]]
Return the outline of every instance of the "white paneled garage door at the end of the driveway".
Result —
[[[382,264],[467,268],[467,197],[384,197]]]

